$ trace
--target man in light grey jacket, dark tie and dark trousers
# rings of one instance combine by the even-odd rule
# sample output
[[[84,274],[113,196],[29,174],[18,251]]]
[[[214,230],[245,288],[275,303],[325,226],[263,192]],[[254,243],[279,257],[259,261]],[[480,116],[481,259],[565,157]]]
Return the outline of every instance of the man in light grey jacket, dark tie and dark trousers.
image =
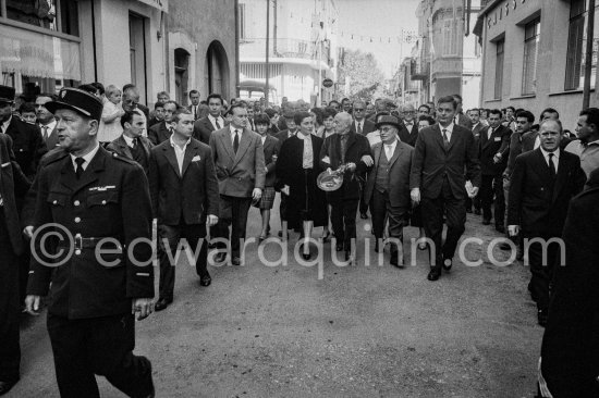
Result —
[[[210,135],[210,147],[219,181],[220,214],[212,229],[212,238],[229,238],[231,232],[231,262],[241,264],[241,239],[245,240],[247,212],[252,200],[259,200],[265,188],[266,165],[262,141],[247,128],[247,109],[231,105],[231,124]],[[233,223],[232,223],[233,222]],[[218,242],[222,248],[224,244]],[[225,252],[219,252],[216,262],[223,262]]]

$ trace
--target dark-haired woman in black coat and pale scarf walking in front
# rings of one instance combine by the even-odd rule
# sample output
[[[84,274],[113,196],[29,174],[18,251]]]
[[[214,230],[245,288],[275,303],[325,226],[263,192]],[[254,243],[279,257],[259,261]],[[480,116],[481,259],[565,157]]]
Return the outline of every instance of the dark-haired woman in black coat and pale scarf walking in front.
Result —
[[[311,134],[314,119],[310,113],[298,112],[294,121],[300,130],[281,146],[277,177],[281,190],[289,189],[288,228],[302,231],[302,237],[310,237],[313,226],[328,224],[325,191],[316,184],[321,172],[318,157],[322,139]],[[309,258],[307,245],[304,245],[304,258]]]

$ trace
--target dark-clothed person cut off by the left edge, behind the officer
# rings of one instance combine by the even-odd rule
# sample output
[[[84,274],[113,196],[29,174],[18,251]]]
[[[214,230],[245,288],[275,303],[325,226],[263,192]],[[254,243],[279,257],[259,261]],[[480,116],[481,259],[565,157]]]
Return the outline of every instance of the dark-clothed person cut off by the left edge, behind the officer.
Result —
[[[20,258],[25,245],[19,223],[17,198],[29,188],[29,181],[14,161],[12,139],[0,134],[0,395],[19,381],[21,348]]]

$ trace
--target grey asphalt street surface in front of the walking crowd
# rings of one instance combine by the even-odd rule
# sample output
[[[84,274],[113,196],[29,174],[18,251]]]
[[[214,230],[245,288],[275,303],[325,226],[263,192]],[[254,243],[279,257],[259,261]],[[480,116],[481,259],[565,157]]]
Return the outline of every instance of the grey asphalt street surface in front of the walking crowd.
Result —
[[[245,265],[209,266],[209,287],[180,260],[174,302],[137,323],[135,352],[152,362],[156,396],[533,397],[542,328],[526,289],[528,269],[494,265],[487,256],[499,234],[468,214],[464,238],[484,244],[467,245],[465,258],[482,264],[456,262],[431,283],[428,256],[417,249],[416,264],[399,270],[388,250],[378,265],[371,244],[367,266],[360,238],[371,237],[368,223],[358,217],[352,266],[330,261],[330,244],[323,266],[298,264],[296,234],[288,265],[264,265],[250,244]],[[277,236],[277,211],[271,225]],[[247,232],[259,235],[256,209]],[[405,228],[406,263],[416,236]],[[265,256],[278,260],[281,249],[268,244]],[[58,397],[44,315],[24,315],[21,340],[22,378],[8,397]],[[98,382],[102,397],[123,396]]]

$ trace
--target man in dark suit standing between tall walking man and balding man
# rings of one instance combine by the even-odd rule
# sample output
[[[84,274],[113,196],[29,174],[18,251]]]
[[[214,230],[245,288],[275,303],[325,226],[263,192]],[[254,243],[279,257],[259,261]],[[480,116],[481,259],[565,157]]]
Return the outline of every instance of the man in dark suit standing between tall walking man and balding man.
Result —
[[[493,109],[489,112],[488,121],[489,128],[480,133],[478,139],[482,224],[489,225],[491,223],[492,204],[496,229],[504,233],[503,217],[505,216],[505,201],[503,198],[502,174],[508,164],[508,151],[510,150],[512,130],[501,124],[501,111],[499,109]]]

